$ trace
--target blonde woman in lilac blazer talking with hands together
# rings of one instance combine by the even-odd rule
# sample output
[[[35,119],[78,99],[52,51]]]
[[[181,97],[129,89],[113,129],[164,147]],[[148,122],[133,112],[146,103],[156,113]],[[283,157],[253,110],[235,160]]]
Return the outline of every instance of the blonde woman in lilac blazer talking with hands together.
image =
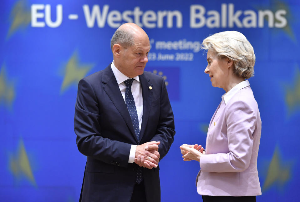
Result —
[[[205,151],[181,145],[183,160],[200,162],[196,186],[204,202],[256,201],[262,194],[257,172],[262,122],[247,80],[254,73],[253,47],[242,33],[229,31],[207,37],[202,48],[204,72],[225,94],[211,118]]]

